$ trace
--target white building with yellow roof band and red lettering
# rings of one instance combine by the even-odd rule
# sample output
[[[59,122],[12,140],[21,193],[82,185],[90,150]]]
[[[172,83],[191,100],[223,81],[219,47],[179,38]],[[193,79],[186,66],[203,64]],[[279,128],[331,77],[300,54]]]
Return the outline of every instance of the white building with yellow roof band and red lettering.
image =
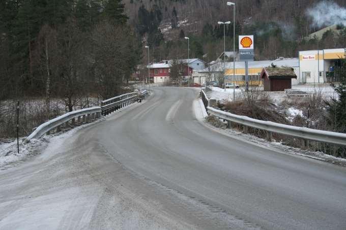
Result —
[[[334,73],[334,68],[342,58],[346,58],[346,48],[300,51],[299,83],[338,82],[339,76]]]

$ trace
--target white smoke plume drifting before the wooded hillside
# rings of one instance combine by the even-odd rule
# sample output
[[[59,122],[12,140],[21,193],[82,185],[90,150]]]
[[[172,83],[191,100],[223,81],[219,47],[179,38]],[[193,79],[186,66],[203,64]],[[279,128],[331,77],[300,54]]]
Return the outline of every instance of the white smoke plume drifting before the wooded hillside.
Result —
[[[322,1],[307,10],[307,15],[319,27],[324,25],[343,24],[346,26],[346,9],[332,1]]]

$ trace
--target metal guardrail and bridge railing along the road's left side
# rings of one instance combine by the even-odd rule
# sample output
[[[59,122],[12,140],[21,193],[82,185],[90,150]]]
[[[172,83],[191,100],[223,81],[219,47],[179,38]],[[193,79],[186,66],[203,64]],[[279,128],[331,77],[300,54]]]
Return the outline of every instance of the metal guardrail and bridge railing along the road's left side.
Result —
[[[148,91],[142,90],[140,93],[141,95],[146,95]],[[70,127],[70,123],[74,126],[76,124],[86,123],[90,120],[98,119],[101,117],[101,114],[108,115],[120,108],[137,102],[137,100],[138,92],[131,92],[102,101],[101,107],[87,108],[66,113],[38,126],[30,136],[23,140],[23,143],[30,142],[31,139],[40,138],[55,128],[57,132],[60,132],[63,125],[65,127]]]

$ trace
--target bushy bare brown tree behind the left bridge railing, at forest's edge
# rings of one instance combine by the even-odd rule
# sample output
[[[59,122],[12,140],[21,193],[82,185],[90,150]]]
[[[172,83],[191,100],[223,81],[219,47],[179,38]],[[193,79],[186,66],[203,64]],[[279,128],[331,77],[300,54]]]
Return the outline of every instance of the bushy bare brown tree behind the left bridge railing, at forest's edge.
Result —
[[[131,30],[102,21],[93,31],[92,46],[100,95],[109,98],[119,94],[123,81],[137,63]]]

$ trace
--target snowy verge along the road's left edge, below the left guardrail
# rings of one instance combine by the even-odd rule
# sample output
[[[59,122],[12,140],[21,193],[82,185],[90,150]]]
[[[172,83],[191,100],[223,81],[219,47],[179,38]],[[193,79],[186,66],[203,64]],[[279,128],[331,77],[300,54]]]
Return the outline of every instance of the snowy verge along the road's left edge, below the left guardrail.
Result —
[[[21,139],[19,140],[19,153],[17,153],[17,141],[12,141],[10,143],[0,144],[0,170],[5,170],[7,168],[14,167],[19,163],[35,156],[41,154],[41,152],[47,148],[50,143],[57,143],[59,141],[65,140],[66,138],[72,137],[75,133],[88,127],[94,125],[98,122],[102,122],[105,119],[112,118],[116,114],[123,113],[131,107],[139,106],[147,101],[144,100],[142,103],[131,104],[124,109],[117,110],[116,112],[108,115],[106,118],[98,119],[94,122],[76,126],[72,129],[69,129],[67,132],[61,132],[57,134],[44,135],[39,139],[32,139],[27,144],[21,144]]]

